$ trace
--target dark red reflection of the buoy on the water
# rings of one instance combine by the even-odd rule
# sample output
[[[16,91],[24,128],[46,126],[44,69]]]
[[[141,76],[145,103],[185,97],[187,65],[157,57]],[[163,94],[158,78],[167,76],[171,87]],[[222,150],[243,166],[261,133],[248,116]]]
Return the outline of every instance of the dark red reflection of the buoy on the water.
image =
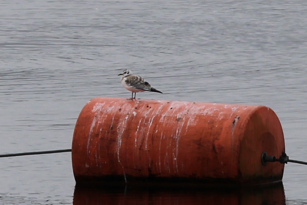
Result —
[[[73,205],[83,204],[286,204],[282,182],[257,188],[85,188],[76,186]]]

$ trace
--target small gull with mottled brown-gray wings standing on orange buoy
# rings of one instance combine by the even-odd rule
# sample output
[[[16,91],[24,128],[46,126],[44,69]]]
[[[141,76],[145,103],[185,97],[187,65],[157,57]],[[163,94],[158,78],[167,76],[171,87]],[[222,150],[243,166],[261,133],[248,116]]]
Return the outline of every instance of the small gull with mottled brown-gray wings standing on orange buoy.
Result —
[[[132,92],[131,98],[128,98],[127,100],[135,99],[137,92],[151,91],[156,93],[162,93],[161,91],[152,88],[151,85],[146,82],[141,76],[133,75],[131,70],[129,69],[123,70],[123,72],[118,75],[122,75],[121,82],[124,88]]]

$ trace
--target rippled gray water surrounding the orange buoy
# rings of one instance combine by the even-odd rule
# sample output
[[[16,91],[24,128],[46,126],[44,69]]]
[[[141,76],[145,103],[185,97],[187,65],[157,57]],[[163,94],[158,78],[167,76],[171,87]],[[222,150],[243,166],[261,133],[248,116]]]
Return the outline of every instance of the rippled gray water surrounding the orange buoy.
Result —
[[[305,0],[3,0],[0,154],[69,149],[86,102],[131,96],[131,69],[164,93],[137,98],[271,107],[307,161],[306,19]],[[72,203],[70,153],[0,161],[0,204]],[[286,164],[287,204],[307,203],[306,172]]]

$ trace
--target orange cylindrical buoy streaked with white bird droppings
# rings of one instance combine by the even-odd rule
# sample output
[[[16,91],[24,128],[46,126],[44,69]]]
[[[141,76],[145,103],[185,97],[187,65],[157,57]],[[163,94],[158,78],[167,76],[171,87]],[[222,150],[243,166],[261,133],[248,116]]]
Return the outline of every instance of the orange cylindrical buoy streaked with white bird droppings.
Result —
[[[94,98],[72,140],[76,184],[280,181],[281,124],[265,106]]]

